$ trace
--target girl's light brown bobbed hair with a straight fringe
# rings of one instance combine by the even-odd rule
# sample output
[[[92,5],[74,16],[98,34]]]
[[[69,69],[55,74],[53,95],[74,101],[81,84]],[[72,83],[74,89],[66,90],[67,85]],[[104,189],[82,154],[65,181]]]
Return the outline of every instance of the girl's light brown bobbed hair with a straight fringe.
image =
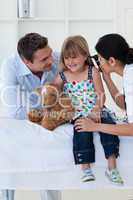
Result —
[[[62,70],[67,70],[67,67],[64,63],[64,58],[75,57],[79,54],[86,56],[85,64],[90,63],[90,51],[86,39],[81,35],[75,35],[66,38],[61,49],[60,68]]]

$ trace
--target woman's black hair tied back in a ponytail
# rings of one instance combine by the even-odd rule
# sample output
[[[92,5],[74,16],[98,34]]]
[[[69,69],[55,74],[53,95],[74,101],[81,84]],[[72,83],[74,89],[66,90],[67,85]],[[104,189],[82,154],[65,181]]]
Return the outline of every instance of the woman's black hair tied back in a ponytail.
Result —
[[[133,48],[130,48],[125,38],[117,33],[101,37],[95,49],[106,60],[114,57],[124,65],[133,63]]]

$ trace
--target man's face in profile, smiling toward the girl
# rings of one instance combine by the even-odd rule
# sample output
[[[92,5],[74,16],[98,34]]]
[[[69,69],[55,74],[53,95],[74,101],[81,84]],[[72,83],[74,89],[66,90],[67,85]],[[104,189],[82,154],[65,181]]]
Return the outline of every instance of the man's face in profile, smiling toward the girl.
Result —
[[[50,47],[38,49],[33,55],[32,62],[27,60],[24,62],[34,73],[50,71],[53,63],[52,49]]]

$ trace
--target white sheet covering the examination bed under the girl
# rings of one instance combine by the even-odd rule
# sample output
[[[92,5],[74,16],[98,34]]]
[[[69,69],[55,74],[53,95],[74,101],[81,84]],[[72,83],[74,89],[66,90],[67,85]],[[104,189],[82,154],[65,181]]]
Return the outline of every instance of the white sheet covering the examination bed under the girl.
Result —
[[[27,120],[0,118],[0,189],[113,187],[104,176],[106,160],[97,133],[96,181],[81,183],[81,171],[73,160],[72,130],[72,125],[65,124],[51,132]],[[118,168],[129,188],[133,186],[133,137],[120,139]]]

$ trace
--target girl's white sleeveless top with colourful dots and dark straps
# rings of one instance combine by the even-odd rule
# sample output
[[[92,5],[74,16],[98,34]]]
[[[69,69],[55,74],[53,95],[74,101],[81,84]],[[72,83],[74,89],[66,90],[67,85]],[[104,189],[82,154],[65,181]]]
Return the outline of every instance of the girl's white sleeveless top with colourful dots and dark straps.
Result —
[[[75,118],[88,116],[96,104],[96,93],[92,78],[92,67],[88,67],[88,79],[68,82],[64,72],[60,72],[64,82],[64,92],[71,98],[75,107]]]

